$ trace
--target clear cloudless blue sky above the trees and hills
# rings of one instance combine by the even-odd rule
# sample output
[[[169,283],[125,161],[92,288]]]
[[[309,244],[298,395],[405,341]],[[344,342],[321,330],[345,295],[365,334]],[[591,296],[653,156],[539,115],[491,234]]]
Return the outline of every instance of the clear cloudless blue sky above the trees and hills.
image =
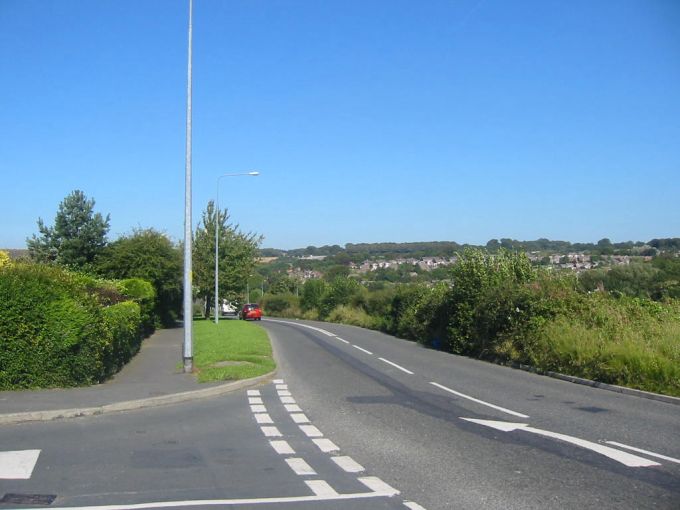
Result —
[[[187,0],[0,0],[0,246],[183,236]],[[194,224],[264,247],[680,236],[676,0],[195,0]]]

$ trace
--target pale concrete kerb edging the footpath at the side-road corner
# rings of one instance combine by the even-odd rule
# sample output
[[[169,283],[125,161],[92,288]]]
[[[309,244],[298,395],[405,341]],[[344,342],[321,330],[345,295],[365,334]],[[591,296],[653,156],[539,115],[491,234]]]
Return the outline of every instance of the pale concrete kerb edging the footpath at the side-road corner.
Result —
[[[129,400],[126,402],[115,402],[113,404],[106,404],[97,407],[85,407],[74,409],[55,409],[51,411],[29,411],[24,413],[10,413],[0,415],[0,425],[15,425],[18,423],[27,423],[32,421],[53,421],[68,418],[82,418],[86,416],[98,416],[107,413],[116,413],[120,411],[133,411],[136,409],[145,409],[149,407],[159,407],[170,404],[179,404],[181,402],[188,402],[201,398],[211,398],[231,393],[233,391],[252,388],[268,382],[274,378],[276,370],[254,377],[252,379],[243,379],[242,381],[234,381],[219,386],[212,386],[202,390],[185,391],[182,393],[174,393],[172,395],[162,395],[159,397],[143,398],[139,400]]]

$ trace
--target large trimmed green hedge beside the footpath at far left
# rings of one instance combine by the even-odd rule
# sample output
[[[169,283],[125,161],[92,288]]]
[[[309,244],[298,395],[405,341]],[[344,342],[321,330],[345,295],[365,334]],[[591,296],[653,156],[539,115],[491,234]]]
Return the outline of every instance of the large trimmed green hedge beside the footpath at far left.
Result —
[[[139,331],[134,303],[109,304],[120,299],[111,282],[59,267],[0,268],[0,390],[88,385],[115,372],[135,349],[130,328]]]

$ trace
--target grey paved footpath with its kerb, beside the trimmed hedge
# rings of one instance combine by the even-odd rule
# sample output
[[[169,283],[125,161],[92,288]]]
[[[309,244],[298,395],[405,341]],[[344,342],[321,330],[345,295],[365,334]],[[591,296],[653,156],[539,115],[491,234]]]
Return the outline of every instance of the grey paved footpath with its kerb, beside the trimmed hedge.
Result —
[[[162,329],[109,381],[84,388],[0,392],[0,425],[139,409],[216,396],[271,376],[199,384],[181,369],[183,329]]]

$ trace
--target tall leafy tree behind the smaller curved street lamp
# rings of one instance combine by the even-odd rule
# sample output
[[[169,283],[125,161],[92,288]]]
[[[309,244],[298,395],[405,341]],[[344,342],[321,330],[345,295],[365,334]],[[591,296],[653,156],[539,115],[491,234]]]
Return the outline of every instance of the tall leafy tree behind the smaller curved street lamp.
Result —
[[[262,236],[244,233],[238,225],[227,223],[229,213],[208,202],[194,239],[193,279],[199,295],[205,299],[204,314],[210,315],[215,300],[215,228],[219,234],[219,299],[234,301],[243,296],[246,281],[255,272]],[[215,221],[217,219],[217,221]]]

